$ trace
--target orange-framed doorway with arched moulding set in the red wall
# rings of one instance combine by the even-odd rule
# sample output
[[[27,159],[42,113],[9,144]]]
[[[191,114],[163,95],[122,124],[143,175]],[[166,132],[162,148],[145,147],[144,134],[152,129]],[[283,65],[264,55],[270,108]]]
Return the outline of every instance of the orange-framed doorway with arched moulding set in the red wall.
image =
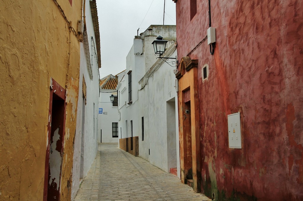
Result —
[[[182,77],[179,83],[179,140],[180,140],[180,168],[181,182],[193,179],[195,192],[201,191],[200,173],[200,138],[199,138],[199,106],[198,106],[198,83],[197,66],[185,73],[185,59],[181,59],[180,72]],[[189,113],[185,111],[189,110]]]

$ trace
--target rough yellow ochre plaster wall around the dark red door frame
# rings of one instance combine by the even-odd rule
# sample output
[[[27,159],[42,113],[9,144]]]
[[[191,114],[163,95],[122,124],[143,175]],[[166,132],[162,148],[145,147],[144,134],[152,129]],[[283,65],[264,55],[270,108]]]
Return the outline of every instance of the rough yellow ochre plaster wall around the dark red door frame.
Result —
[[[77,30],[82,1],[57,2]],[[66,89],[61,200],[71,199],[79,65],[55,0],[0,1],[0,200],[43,200],[51,78]]]

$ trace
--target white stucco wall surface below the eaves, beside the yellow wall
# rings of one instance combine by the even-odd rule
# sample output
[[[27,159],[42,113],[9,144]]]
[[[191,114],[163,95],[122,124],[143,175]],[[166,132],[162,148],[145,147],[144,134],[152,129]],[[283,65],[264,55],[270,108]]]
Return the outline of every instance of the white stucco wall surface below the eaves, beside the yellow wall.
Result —
[[[79,186],[80,177],[85,177],[96,157],[98,145],[97,145],[97,128],[98,128],[98,98],[99,98],[99,70],[95,55],[92,51],[92,42],[95,39],[95,32],[92,24],[92,16],[89,6],[89,0],[86,0],[85,13],[86,13],[86,28],[88,35],[88,44],[90,60],[92,61],[92,75],[93,79],[90,79],[87,63],[85,58],[84,44],[80,44],[80,78],[79,78],[79,98],[77,105],[77,123],[76,123],[76,135],[74,144],[74,156],[73,156],[73,170],[72,170],[72,200],[76,196]],[[95,44],[96,45],[96,44]],[[97,48],[95,46],[95,48]],[[86,84],[86,105],[83,105],[82,98],[82,81],[85,79]],[[84,111],[83,111],[84,109]],[[83,118],[84,115],[84,118]],[[84,122],[82,122],[84,120]],[[83,127],[84,125],[84,127]],[[83,136],[83,137],[82,137]],[[81,164],[81,149],[83,151],[83,173],[80,173]],[[81,174],[81,175],[80,175]]]

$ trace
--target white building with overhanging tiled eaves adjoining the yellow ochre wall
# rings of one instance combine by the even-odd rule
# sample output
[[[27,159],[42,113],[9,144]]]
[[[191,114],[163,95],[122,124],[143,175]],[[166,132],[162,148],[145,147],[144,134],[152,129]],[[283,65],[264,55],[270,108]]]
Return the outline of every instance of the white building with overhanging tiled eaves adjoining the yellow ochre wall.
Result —
[[[100,35],[95,0],[85,0],[83,15],[86,30],[80,44],[80,83],[77,106],[76,135],[72,169],[73,200],[79,190],[80,182],[87,175],[95,160],[98,128]]]

